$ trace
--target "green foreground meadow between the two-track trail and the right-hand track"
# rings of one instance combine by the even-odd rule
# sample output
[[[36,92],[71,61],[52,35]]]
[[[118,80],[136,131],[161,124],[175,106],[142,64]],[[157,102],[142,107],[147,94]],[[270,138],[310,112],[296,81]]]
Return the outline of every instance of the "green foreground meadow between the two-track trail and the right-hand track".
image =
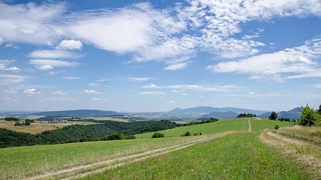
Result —
[[[83,179],[311,179],[297,162],[238,133],[133,162]]]

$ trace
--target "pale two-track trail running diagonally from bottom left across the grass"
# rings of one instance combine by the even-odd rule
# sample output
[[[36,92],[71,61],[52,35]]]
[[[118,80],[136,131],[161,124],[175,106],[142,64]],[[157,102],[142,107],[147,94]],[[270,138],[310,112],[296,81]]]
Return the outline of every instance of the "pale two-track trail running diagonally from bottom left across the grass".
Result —
[[[204,136],[204,138],[185,142],[182,144],[153,149],[153,150],[146,151],[143,153],[128,155],[128,156],[110,159],[110,160],[106,160],[106,161],[102,161],[102,162],[97,162],[97,163],[92,163],[92,164],[87,164],[87,165],[80,165],[80,166],[76,166],[76,167],[72,167],[72,168],[64,169],[64,170],[60,170],[60,171],[49,172],[46,174],[31,177],[28,179],[49,179],[51,177],[54,177],[55,179],[80,178],[80,177],[84,177],[84,176],[92,174],[92,173],[102,172],[104,170],[115,168],[117,166],[121,166],[121,165],[124,165],[127,163],[143,160],[143,159],[146,159],[149,157],[162,155],[162,154],[165,154],[168,152],[172,152],[175,150],[186,148],[186,147],[189,147],[191,145],[194,145],[194,144],[197,144],[200,142],[205,142],[205,141],[212,140],[212,139],[215,139],[215,138],[218,138],[221,136],[225,136],[228,134],[232,134],[232,133],[237,133],[237,131],[228,131],[228,132],[214,134],[211,136]]]

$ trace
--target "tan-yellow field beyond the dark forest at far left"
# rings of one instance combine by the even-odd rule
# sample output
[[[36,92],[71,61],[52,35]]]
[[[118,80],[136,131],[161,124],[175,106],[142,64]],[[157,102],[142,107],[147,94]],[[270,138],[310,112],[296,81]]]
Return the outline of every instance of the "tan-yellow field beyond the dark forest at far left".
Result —
[[[15,125],[15,123],[16,123],[15,121],[0,120],[0,128],[15,130],[18,132],[26,132],[26,133],[36,134],[36,133],[41,133],[45,130],[53,130],[53,129],[56,129],[57,127],[61,128],[66,125],[95,124],[95,122],[72,122],[72,121],[58,122],[58,123],[57,122],[56,123],[31,122],[30,125]]]

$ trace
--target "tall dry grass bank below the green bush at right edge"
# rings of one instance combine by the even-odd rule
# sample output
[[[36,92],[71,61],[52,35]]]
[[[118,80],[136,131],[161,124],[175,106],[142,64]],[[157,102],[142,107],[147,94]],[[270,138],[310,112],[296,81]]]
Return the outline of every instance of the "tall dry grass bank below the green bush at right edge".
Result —
[[[291,127],[284,127],[275,130],[277,134],[288,135],[291,137],[309,140],[316,143],[321,143],[321,126],[301,126],[295,125]]]

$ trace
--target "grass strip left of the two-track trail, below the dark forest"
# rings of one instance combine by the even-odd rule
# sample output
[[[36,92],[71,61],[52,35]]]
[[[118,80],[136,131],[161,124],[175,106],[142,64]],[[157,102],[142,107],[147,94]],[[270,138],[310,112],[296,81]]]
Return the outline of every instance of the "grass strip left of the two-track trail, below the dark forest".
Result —
[[[28,178],[204,137],[205,135],[2,148],[0,150],[0,179]]]

